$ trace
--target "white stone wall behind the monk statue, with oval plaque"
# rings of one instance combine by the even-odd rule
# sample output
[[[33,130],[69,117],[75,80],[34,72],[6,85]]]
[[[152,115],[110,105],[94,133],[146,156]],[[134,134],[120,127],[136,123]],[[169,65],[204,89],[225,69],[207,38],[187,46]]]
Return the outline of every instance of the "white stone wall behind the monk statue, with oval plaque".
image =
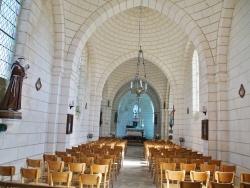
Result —
[[[54,59],[54,23],[51,0],[23,1],[15,58],[30,65],[22,90],[22,120],[2,120],[8,130],[0,135],[0,164],[25,166],[26,158],[41,158],[45,150]],[[41,78],[42,88],[35,83]],[[19,176],[16,176],[18,178]]]

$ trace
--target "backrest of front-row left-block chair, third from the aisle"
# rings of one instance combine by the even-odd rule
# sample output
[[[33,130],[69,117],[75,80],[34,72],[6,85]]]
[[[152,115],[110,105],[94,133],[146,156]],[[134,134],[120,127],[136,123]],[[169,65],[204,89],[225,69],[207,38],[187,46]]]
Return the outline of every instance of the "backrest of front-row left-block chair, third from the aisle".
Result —
[[[32,181],[38,183],[41,177],[41,170],[38,168],[21,168],[20,175],[22,183],[30,183]]]

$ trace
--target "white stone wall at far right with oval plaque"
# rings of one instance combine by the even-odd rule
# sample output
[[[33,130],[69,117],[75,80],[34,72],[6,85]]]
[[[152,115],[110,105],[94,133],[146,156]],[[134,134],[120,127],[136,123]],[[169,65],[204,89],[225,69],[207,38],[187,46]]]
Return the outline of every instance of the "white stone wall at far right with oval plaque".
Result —
[[[237,1],[229,38],[228,71],[228,162],[237,164],[237,172],[250,169],[250,1]],[[243,84],[244,98],[238,91]]]

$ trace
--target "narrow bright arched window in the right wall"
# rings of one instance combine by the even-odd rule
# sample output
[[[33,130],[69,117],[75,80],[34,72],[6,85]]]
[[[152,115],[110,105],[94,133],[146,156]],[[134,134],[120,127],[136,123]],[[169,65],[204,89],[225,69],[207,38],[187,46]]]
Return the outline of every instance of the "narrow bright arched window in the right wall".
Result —
[[[193,111],[199,111],[199,57],[195,50],[192,58],[192,88],[193,88]]]

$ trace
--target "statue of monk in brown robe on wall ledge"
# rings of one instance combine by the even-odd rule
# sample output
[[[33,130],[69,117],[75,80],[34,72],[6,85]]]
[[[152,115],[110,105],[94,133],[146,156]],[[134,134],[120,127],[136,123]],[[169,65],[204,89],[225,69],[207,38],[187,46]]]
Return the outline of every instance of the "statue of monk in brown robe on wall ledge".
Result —
[[[18,111],[21,109],[23,79],[27,78],[29,65],[23,66],[24,58],[18,58],[11,66],[11,77],[8,89],[3,98],[0,110]]]

